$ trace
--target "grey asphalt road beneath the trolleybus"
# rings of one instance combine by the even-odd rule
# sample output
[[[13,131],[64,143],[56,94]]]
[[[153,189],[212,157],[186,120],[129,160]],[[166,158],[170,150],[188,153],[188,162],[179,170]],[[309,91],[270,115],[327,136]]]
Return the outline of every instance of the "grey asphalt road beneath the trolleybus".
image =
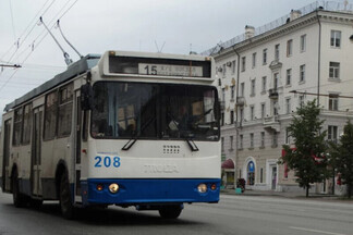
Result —
[[[81,211],[75,221],[61,218],[58,202],[17,209],[0,193],[0,235],[13,234],[280,234],[352,235],[353,203],[281,197],[222,195],[218,205],[185,205],[178,220],[134,208]]]

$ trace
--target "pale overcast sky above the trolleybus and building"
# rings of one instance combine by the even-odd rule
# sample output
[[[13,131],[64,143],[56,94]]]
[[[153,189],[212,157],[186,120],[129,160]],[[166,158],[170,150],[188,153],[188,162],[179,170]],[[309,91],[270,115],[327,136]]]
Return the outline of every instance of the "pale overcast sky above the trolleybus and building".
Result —
[[[339,2],[342,2],[340,0]],[[45,37],[39,16],[51,27],[60,18],[65,37],[82,53],[132,50],[203,52],[300,9],[311,0],[0,0],[0,113],[4,104],[65,70],[53,39]],[[72,7],[72,8],[71,8]],[[75,61],[77,54],[52,34]],[[20,40],[19,40],[20,38]],[[20,46],[17,48],[17,45]]]

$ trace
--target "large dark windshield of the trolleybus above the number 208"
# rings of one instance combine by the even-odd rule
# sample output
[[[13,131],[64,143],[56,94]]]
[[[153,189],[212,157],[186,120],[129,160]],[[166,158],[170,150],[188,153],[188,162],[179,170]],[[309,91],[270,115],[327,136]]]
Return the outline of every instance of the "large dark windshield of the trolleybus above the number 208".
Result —
[[[214,87],[98,82],[93,89],[94,138],[219,139]]]

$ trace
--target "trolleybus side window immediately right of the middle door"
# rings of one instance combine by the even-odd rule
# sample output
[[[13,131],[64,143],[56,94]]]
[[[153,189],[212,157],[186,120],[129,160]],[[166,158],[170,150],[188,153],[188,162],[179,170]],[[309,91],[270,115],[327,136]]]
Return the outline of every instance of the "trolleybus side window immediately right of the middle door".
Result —
[[[58,92],[50,92],[46,97],[44,139],[53,139],[57,134]]]

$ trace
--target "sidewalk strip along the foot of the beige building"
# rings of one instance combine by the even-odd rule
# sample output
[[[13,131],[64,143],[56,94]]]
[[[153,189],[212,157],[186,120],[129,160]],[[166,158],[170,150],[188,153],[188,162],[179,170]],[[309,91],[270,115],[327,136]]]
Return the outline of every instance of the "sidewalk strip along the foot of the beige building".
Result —
[[[275,190],[252,190],[247,189],[243,194],[236,194],[235,189],[224,188],[220,190],[221,195],[234,195],[234,196],[265,196],[265,197],[284,197],[284,198],[295,198],[295,199],[306,199],[305,190],[303,191],[275,191]],[[327,194],[315,194],[309,193],[307,199],[324,199],[324,200],[338,200],[352,202],[352,200],[343,199],[341,196],[337,195],[327,195]]]

